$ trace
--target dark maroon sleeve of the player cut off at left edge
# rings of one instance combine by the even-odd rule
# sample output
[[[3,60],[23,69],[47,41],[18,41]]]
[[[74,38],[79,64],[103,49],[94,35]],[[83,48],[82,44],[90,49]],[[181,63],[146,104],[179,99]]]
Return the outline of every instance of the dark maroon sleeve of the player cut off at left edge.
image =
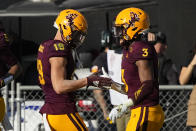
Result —
[[[0,49],[0,60],[8,67],[17,64],[17,59],[8,47]]]

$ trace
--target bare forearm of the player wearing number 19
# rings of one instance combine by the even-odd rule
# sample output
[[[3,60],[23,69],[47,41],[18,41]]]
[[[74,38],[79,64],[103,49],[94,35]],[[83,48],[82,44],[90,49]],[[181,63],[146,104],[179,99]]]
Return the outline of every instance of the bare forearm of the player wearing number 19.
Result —
[[[53,88],[57,94],[75,91],[87,85],[86,78],[80,80],[61,80],[53,84]]]

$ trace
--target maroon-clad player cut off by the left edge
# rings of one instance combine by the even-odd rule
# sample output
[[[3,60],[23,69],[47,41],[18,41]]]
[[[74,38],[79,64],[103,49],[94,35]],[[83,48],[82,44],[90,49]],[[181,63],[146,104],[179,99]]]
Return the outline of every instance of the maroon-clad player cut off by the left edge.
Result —
[[[10,50],[9,38],[4,31],[0,22],[0,89],[8,85],[21,73],[20,64]],[[5,126],[5,113],[5,103],[0,91],[0,123],[2,123],[3,127]],[[4,128],[7,129],[7,127]]]

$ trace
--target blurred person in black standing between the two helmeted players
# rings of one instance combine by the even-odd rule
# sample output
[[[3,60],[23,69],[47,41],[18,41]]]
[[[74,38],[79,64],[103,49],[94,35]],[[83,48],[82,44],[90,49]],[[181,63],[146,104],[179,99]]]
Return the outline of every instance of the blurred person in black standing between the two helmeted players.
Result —
[[[97,72],[98,70],[101,70],[102,67],[104,67],[105,71],[109,75],[111,75],[111,73],[109,73],[109,72],[113,72],[112,73],[113,75],[115,74],[115,71],[112,71],[112,69],[108,69],[108,66],[110,64],[110,63],[108,63],[108,59],[109,59],[108,58],[108,51],[109,52],[114,51],[114,50],[110,50],[110,49],[115,49],[115,51],[118,55],[120,55],[122,53],[122,50],[120,49],[120,46],[118,46],[114,42],[114,39],[112,39],[111,32],[102,31],[101,32],[101,51],[102,52],[93,61],[93,64],[92,64],[93,66],[91,68],[92,72]],[[115,54],[116,54],[115,51],[113,53],[114,57],[115,57]],[[109,54],[111,54],[111,53],[109,53]],[[114,60],[114,57],[113,57],[113,60]],[[113,64],[113,66],[115,65],[117,70],[118,69],[121,70],[121,62],[118,61],[118,64],[119,65]],[[121,83],[121,78],[117,82]],[[104,90],[104,91],[103,90],[94,90],[93,93],[94,93],[94,97],[95,97],[96,101],[99,103],[99,105],[100,105],[100,107],[103,111],[103,115],[104,115],[105,120],[107,119],[107,117],[109,115],[109,110],[110,109],[108,109],[108,107],[110,107],[111,104],[113,106],[117,106],[118,104],[121,104],[122,99],[124,97],[126,99],[128,99],[126,95],[120,94],[120,93],[118,93],[116,91],[112,91],[112,90],[110,90],[110,91],[108,91],[108,90]],[[110,96],[110,101],[108,101],[108,99],[105,99],[103,94],[104,94],[104,96]],[[114,98],[115,98],[115,100],[114,100]],[[127,125],[128,120],[129,120],[129,116],[130,116],[130,111],[128,111],[128,113],[126,113],[125,115],[123,115],[121,118],[119,118],[116,121],[116,128],[117,128],[118,131],[124,131],[126,129],[126,125]],[[112,128],[114,128],[114,127],[112,127]]]

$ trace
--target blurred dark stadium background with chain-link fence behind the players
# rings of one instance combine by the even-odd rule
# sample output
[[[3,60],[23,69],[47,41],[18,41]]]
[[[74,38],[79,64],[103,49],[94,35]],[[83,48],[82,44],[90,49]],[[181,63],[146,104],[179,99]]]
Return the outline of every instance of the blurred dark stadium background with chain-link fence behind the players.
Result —
[[[18,57],[24,73],[4,90],[7,113],[14,131],[42,131],[43,124],[38,113],[43,104],[43,94],[36,85],[36,54],[41,41],[53,38],[53,22],[57,13],[65,8],[81,11],[89,24],[88,36],[78,49],[85,68],[91,66],[94,56],[101,48],[101,31],[111,28],[117,13],[126,7],[140,7],[150,16],[152,30],[167,35],[167,56],[172,58],[178,69],[185,62],[185,54],[193,47],[196,26],[195,0],[0,0],[0,21],[12,42],[12,50]],[[109,17],[108,17],[109,16]],[[93,54],[93,56],[88,54]],[[86,57],[88,56],[88,57]],[[16,84],[20,83],[20,84]],[[186,127],[186,111],[189,86],[160,86],[161,104],[166,120],[163,131],[189,131]],[[86,121],[99,120],[103,130],[112,126],[103,120],[99,105],[92,99],[92,89],[77,91],[78,100],[87,100],[87,107],[79,107]],[[109,101],[108,92],[104,93]],[[92,97],[89,97],[92,96]],[[80,105],[84,101],[78,101]],[[108,104],[108,109],[111,105]],[[93,123],[93,122],[91,122]],[[90,125],[89,125],[90,126]]]

